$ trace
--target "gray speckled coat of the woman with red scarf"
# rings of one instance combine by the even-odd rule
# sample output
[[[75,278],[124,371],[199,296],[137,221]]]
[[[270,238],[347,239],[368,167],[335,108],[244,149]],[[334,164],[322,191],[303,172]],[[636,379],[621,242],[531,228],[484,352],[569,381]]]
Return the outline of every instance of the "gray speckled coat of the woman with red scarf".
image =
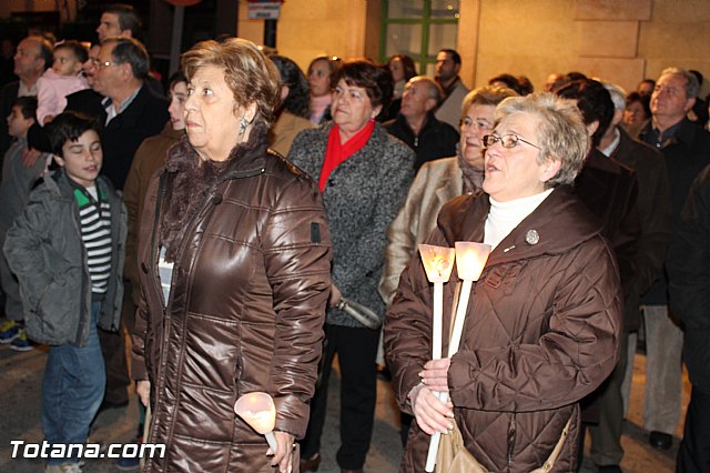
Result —
[[[318,182],[333,122],[298,133],[288,160]],[[375,124],[369,141],[329,175],[323,201],[333,235],[333,284],[384,319],[377,285],[387,240],[414,178],[414,153]],[[346,312],[328,309],[327,322],[362,328]]]

